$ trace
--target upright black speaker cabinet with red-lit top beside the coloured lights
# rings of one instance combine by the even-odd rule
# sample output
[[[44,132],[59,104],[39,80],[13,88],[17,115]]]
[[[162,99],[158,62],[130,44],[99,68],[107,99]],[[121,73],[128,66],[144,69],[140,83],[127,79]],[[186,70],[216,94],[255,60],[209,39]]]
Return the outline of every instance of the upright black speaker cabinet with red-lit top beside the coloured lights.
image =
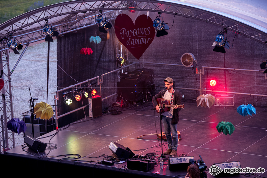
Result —
[[[102,116],[102,98],[99,95],[92,96],[89,101],[89,117]]]

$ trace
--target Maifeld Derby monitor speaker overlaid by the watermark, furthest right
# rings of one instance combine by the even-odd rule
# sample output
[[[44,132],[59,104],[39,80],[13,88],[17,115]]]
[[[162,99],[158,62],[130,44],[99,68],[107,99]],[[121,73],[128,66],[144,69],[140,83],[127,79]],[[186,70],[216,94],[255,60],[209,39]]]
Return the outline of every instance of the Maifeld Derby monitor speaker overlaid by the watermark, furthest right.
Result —
[[[225,177],[225,176],[230,176],[230,175],[238,175],[239,173],[226,173],[223,170],[226,168],[230,168],[230,169],[240,169],[241,165],[240,165],[240,161],[232,161],[232,162],[224,162],[224,163],[214,163],[212,166],[217,166],[218,169],[213,168],[212,170],[210,170],[210,172],[212,172],[213,174],[217,174],[217,172],[219,171],[220,173],[217,175],[214,175],[215,177]],[[212,167],[210,166],[210,167]]]

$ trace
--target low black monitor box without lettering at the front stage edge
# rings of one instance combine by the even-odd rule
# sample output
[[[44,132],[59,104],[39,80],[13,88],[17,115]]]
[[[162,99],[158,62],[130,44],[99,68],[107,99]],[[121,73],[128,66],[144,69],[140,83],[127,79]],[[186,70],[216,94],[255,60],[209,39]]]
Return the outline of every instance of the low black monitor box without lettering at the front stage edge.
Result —
[[[149,171],[155,167],[154,162],[140,161],[140,160],[127,160],[127,168],[131,170]]]

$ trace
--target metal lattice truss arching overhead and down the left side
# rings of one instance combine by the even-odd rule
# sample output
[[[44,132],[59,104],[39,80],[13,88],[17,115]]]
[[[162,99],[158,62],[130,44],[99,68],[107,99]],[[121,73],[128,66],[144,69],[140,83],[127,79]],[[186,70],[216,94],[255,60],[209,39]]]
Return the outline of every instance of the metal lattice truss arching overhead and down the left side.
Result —
[[[16,42],[22,43],[25,47],[20,58],[30,44],[43,42],[45,34],[43,26],[48,19],[52,24],[53,29],[59,32],[59,36],[66,33],[75,32],[84,29],[91,25],[95,25],[95,20],[102,10],[109,21],[114,20],[117,15],[125,10],[136,10],[155,13],[166,13],[173,16],[182,16],[185,18],[197,19],[206,23],[214,24],[222,28],[227,28],[230,31],[244,35],[250,39],[256,40],[261,44],[267,45],[267,33],[259,28],[250,26],[231,19],[231,16],[225,16],[223,13],[210,12],[201,7],[188,6],[183,2],[169,2],[156,0],[140,0],[140,1],[68,1],[57,3],[46,7],[38,8],[30,12],[24,13],[18,17],[8,20],[0,25],[0,60],[3,78],[7,85],[2,90],[2,100],[0,103],[1,115],[5,121],[13,118],[12,94],[10,89],[10,78],[14,72],[14,68],[9,69],[8,53],[10,49],[7,47],[8,38],[14,38]],[[266,30],[266,29],[265,29]],[[117,55],[127,57],[127,53],[123,52],[124,47],[117,41]],[[19,62],[18,60],[18,62]],[[18,63],[17,62],[17,63]],[[17,64],[16,64],[17,65]],[[8,67],[7,67],[8,66]],[[14,66],[15,67],[15,66]],[[3,96],[4,95],[4,96]],[[5,99],[4,99],[5,98]],[[6,127],[2,127],[2,132]],[[2,136],[2,134],[1,134]],[[12,140],[14,145],[14,136],[6,136],[2,140]],[[9,144],[7,144],[9,146]],[[0,144],[1,146],[1,144]]]

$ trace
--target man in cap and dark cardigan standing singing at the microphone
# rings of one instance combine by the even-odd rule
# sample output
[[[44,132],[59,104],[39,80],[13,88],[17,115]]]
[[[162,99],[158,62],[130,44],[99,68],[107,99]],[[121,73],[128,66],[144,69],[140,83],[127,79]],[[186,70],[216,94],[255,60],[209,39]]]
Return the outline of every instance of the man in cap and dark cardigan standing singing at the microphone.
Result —
[[[165,89],[160,91],[158,94],[153,96],[152,103],[157,110],[160,111],[161,104],[158,104],[157,99],[160,98],[161,101],[168,100],[171,105],[175,105],[170,108],[170,111],[165,111],[161,113],[162,115],[162,123],[164,127],[164,132],[167,138],[168,149],[163,154],[170,154],[174,156],[177,154],[177,145],[178,145],[178,134],[177,134],[177,123],[179,121],[179,111],[181,110],[178,105],[182,102],[181,93],[173,89],[173,80],[170,77],[167,77],[164,80]],[[162,105],[161,105],[162,106]]]

